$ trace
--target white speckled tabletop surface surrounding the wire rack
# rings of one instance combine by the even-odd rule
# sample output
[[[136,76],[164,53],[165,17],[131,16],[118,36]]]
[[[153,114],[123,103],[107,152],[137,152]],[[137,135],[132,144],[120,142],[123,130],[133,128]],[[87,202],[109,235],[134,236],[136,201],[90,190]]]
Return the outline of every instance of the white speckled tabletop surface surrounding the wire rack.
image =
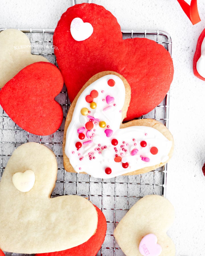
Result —
[[[83,1],[77,1],[81,3]],[[118,19],[121,29],[164,30],[173,41],[175,67],[171,84],[169,129],[175,151],[168,164],[167,198],[176,210],[169,235],[177,256],[204,255],[205,81],[196,78],[192,61],[198,36],[205,27],[205,2],[198,0],[201,22],[194,26],[177,0],[98,0]],[[190,3],[190,1],[187,1]],[[55,28],[71,1],[1,1],[0,27]]]

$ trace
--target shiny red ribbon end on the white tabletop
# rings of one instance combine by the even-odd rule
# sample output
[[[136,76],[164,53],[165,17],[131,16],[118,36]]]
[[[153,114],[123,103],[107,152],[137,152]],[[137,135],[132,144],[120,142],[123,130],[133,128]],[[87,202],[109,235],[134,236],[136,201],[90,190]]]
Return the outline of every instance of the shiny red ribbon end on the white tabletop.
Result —
[[[188,3],[186,3],[184,0],[177,0],[177,1],[193,25],[201,21],[198,14],[198,8],[197,8],[197,2],[196,2],[197,0],[191,0],[190,5],[188,5]]]

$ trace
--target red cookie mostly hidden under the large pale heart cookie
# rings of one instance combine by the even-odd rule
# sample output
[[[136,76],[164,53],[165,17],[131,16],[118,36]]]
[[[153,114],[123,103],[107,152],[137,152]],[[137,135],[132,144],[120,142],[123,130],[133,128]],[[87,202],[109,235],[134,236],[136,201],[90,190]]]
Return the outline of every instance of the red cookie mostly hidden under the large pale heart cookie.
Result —
[[[95,256],[103,244],[107,224],[106,219],[101,210],[96,207],[98,213],[98,224],[95,234],[85,243],[64,251],[52,253],[37,253],[35,256]]]

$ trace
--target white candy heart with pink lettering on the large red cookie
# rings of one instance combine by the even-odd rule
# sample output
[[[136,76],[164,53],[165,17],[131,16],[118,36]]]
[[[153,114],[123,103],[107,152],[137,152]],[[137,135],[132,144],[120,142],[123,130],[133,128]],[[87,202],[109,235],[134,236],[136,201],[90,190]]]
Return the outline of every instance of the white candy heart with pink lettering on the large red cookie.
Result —
[[[70,32],[76,41],[83,41],[93,34],[93,26],[89,22],[83,22],[81,18],[74,18],[70,25]]]

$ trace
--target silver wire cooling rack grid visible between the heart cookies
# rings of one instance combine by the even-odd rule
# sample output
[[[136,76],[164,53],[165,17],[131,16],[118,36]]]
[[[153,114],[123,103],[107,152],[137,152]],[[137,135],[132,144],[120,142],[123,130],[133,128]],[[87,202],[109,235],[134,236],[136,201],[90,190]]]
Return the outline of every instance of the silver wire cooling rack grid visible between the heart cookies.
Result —
[[[5,28],[0,29],[0,32],[2,30],[5,30]],[[32,54],[42,55],[58,66],[54,55],[54,29],[20,30],[30,39]],[[169,34],[166,32],[158,30],[122,30],[122,34],[124,39],[146,37],[154,40],[158,44],[163,45],[171,54],[172,42]],[[106,237],[97,255],[124,255],[114,239],[114,228],[141,197],[148,194],[166,195],[167,164],[146,174],[119,176],[111,179],[98,179],[87,174],[66,172],[63,168],[62,140],[65,118],[70,102],[65,86],[63,86],[62,92],[56,97],[56,100],[63,108],[63,123],[58,131],[49,136],[37,136],[24,131],[8,117],[0,106],[0,177],[15,148],[31,141],[46,145],[54,152],[58,162],[58,176],[52,197],[80,195],[88,198],[103,211],[107,221]],[[152,118],[168,127],[169,92],[159,106],[141,118]],[[6,253],[6,255],[19,256],[22,254]]]

